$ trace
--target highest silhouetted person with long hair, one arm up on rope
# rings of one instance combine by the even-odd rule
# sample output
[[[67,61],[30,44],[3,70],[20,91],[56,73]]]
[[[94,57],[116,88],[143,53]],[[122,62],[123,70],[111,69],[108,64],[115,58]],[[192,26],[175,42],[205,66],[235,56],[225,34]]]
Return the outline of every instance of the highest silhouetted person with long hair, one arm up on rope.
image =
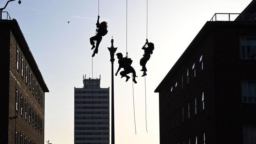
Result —
[[[95,48],[95,50],[93,51],[92,57],[94,57],[95,54],[98,54],[99,43],[102,40],[102,36],[107,35],[107,22],[103,21],[103,22],[99,23],[99,15],[98,15],[98,20],[97,20],[97,23],[96,23],[96,27],[98,28],[97,29],[97,34],[90,38],[90,43],[92,45],[91,49]],[[96,47],[95,47],[94,40],[97,41],[96,42]]]

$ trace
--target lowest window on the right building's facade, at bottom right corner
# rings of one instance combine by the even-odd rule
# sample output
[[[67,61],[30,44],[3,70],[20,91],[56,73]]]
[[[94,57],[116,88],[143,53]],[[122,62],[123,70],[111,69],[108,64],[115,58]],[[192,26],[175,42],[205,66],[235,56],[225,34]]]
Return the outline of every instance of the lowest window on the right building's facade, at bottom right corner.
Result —
[[[256,126],[243,126],[243,144],[256,143]]]

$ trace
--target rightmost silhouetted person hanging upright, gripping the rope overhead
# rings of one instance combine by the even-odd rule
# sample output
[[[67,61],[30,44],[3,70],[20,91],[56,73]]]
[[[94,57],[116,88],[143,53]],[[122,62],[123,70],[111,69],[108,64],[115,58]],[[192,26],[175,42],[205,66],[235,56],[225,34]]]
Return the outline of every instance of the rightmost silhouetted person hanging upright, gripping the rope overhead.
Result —
[[[146,45],[148,47],[146,47]],[[153,54],[153,50],[154,50],[154,43],[149,43],[148,39],[146,39],[146,43],[145,45],[141,48],[144,50],[144,54],[143,54],[143,58],[141,58],[140,60],[140,65],[142,66],[141,71],[143,71],[143,75],[142,76],[146,76],[146,63],[150,58],[150,54]]]

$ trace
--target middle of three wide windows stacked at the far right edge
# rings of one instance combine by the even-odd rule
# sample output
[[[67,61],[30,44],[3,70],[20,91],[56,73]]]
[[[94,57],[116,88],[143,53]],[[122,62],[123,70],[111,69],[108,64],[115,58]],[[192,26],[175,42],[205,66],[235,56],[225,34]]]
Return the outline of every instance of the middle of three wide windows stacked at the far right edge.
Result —
[[[242,82],[242,96],[243,102],[256,102],[256,82]]]

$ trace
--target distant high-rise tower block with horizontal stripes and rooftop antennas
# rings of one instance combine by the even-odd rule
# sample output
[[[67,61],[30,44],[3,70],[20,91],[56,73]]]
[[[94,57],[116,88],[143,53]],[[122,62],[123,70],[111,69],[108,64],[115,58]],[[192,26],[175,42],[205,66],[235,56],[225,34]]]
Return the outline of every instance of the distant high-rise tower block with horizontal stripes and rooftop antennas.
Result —
[[[74,143],[109,144],[109,87],[100,78],[83,78],[74,88]]]

